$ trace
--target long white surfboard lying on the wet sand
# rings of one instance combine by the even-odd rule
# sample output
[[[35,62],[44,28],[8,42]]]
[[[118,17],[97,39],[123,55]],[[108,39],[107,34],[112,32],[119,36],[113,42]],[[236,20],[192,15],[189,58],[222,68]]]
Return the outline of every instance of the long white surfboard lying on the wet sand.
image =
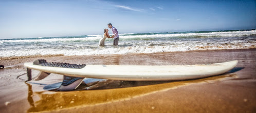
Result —
[[[40,63],[41,62],[41,63]],[[42,71],[39,79],[43,79],[50,73],[63,74],[74,78],[98,78],[124,81],[170,81],[198,79],[223,74],[237,64],[237,60],[214,64],[198,65],[81,65],[63,63],[47,63],[35,61],[25,63],[28,68],[28,77],[31,80],[31,69]],[[43,66],[42,64],[55,66]],[[59,67],[56,65],[59,65]],[[69,66],[73,66],[70,68]],[[75,65],[75,68],[74,68]],[[80,66],[80,68],[76,68]],[[82,67],[81,67],[82,66]],[[30,72],[29,72],[30,71]],[[30,74],[30,75],[29,75]]]

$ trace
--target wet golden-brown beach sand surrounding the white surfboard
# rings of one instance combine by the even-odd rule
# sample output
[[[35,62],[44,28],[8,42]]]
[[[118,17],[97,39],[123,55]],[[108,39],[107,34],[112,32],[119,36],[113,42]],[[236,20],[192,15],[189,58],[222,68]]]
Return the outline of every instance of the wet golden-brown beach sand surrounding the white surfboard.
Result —
[[[113,81],[95,90],[48,91],[61,82],[50,75],[25,83],[25,62],[103,65],[189,65],[238,60],[235,69],[220,76],[187,81]],[[256,49],[161,52],[119,55],[30,56],[2,58],[1,112],[255,112]],[[32,71],[33,77],[36,71]],[[19,76],[19,78],[17,78]]]

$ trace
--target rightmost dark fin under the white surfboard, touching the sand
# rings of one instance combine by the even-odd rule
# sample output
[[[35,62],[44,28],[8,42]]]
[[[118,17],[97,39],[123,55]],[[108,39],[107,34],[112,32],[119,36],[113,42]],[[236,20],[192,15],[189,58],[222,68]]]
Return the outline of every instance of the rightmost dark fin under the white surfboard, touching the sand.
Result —
[[[70,91],[77,89],[77,87],[83,82],[83,79],[84,78],[70,77],[64,75],[62,84],[57,91]]]

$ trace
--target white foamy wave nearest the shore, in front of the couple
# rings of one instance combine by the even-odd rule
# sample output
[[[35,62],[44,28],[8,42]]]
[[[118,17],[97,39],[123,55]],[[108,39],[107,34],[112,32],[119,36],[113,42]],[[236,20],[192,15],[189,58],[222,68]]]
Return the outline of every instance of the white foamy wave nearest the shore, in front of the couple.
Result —
[[[76,49],[26,49],[26,50],[2,50],[0,57],[12,56],[31,56],[31,55],[97,55],[97,54],[129,54],[129,53],[154,53],[154,52],[175,52],[175,51],[191,51],[191,50],[221,50],[221,49],[249,49],[256,48],[255,43],[242,44],[183,44],[175,43],[169,46],[148,45],[148,46],[105,46],[94,48],[76,48]]]

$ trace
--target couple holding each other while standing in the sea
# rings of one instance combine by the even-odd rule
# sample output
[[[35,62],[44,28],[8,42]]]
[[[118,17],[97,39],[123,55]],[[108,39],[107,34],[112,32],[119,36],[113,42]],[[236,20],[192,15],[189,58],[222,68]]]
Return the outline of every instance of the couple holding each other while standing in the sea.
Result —
[[[119,35],[118,35],[117,28],[113,27],[111,23],[107,24],[107,26],[108,26],[108,28],[111,28],[111,31],[112,31],[113,35],[109,36],[108,29],[104,29],[104,35],[100,39],[99,46],[105,46],[105,39],[106,38],[113,38],[114,39],[113,44],[114,44],[114,46],[117,46],[118,41],[119,41]]]

